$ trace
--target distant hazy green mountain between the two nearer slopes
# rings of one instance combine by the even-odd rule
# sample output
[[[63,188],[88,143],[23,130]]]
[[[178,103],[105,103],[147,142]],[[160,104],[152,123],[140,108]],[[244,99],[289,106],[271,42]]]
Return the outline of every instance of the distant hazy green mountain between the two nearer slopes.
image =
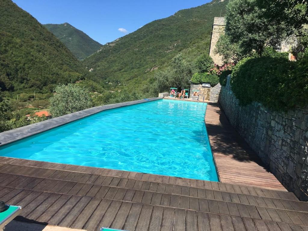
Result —
[[[63,24],[44,24],[51,33],[75,55],[82,60],[97,51],[102,44],[91,39],[87,34],[65,22]]]

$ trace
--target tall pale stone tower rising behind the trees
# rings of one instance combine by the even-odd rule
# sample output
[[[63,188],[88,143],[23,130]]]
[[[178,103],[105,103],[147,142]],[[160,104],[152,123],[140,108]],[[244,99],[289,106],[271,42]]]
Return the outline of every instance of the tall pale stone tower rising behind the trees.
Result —
[[[222,65],[221,55],[215,54],[214,49],[219,39],[219,36],[225,33],[225,18],[223,17],[215,17],[213,23],[213,30],[211,36],[211,44],[210,44],[210,52],[209,55],[213,58],[214,63],[218,65]]]

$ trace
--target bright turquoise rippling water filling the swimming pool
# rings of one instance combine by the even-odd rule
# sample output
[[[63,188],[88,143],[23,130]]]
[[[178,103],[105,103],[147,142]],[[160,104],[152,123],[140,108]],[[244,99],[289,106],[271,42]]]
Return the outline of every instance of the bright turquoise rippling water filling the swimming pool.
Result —
[[[0,147],[0,155],[218,181],[206,104],[156,100],[99,112]]]

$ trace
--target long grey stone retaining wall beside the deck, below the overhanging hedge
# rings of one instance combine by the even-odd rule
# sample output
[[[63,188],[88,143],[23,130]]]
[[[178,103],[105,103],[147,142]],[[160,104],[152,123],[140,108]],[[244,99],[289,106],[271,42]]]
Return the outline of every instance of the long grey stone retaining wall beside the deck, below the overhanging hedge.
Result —
[[[289,191],[308,201],[308,106],[270,111],[261,103],[239,106],[230,87],[221,87],[219,102],[233,127]]]

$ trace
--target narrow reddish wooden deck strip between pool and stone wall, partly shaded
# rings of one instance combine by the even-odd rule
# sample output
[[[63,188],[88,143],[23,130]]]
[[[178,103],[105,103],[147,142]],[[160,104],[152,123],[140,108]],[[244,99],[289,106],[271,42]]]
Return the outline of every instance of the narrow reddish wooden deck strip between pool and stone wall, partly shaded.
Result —
[[[208,103],[205,124],[221,182],[286,190],[231,126],[218,103]]]

